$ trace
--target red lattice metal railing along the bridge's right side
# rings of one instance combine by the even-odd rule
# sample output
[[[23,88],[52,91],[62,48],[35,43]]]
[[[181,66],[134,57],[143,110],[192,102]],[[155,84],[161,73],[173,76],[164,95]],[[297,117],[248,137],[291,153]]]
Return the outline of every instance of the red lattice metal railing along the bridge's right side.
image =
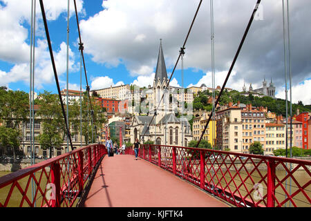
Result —
[[[163,145],[139,156],[235,206],[311,205],[311,161]]]

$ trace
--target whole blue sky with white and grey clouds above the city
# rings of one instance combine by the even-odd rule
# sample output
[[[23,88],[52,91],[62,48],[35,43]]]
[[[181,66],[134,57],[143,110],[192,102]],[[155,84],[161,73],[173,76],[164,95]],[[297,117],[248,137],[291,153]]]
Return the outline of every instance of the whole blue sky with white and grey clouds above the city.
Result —
[[[199,0],[77,0],[79,23],[84,42],[88,84],[93,89],[110,85],[152,84],[163,39],[167,73],[171,73]],[[0,0],[0,84],[12,90],[29,90],[30,0]],[[61,88],[66,86],[67,1],[44,1],[50,39],[57,58]],[[311,86],[311,28],[301,25],[310,18],[305,8],[310,1],[290,5],[292,37],[292,75],[294,102],[311,104],[311,95],[301,93]],[[215,1],[216,85],[223,85],[225,75],[241,40],[254,3],[241,0]],[[272,77],[277,97],[284,95],[283,26],[279,3],[264,2],[263,19],[254,21],[238,57],[227,87],[241,90],[261,87],[265,76]],[[70,0],[70,89],[79,88],[78,33],[73,0]],[[184,86],[211,86],[209,3],[202,3],[186,45]],[[180,13],[182,12],[182,13]],[[56,93],[46,35],[37,0],[36,92]],[[261,36],[258,38],[258,36]],[[309,40],[308,40],[309,39]],[[180,64],[171,85],[181,86]],[[86,81],[82,72],[82,85]],[[311,93],[310,93],[311,94]]]

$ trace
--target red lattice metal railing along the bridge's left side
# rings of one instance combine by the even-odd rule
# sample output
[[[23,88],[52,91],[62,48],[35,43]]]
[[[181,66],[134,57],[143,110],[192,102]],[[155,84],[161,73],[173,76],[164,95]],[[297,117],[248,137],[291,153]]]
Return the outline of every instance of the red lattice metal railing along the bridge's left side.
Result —
[[[75,206],[106,153],[93,144],[0,177],[0,207]]]

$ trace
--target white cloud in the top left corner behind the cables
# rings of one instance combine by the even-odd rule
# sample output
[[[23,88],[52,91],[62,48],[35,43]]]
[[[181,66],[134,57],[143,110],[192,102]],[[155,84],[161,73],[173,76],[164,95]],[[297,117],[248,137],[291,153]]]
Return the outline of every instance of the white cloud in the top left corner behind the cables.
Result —
[[[30,28],[27,29],[23,23],[30,26],[31,17],[31,1],[20,0],[1,0],[4,3],[0,7],[0,59],[8,61],[12,64],[20,64],[29,62],[30,45],[26,43]],[[44,1],[44,8],[48,20],[57,19],[63,12],[67,12],[67,1],[55,0]],[[77,1],[77,10],[82,12],[83,1]],[[73,3],[71,5],[70,14],[73,15]],[[41,21],[41,9],[39,1],[36,6],[37,17],[37,36],[40,36],[40,30],[43,28]],[[45,36],[44,36],[45,37]]]

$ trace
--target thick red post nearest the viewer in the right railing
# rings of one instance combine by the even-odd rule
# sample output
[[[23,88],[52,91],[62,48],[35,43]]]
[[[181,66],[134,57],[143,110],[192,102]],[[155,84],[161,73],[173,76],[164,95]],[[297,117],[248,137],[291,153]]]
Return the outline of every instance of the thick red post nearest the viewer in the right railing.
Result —
[[[274,207],[275,198],[275,173],[276,164],[274,160],[267,162],[267,207]]]

